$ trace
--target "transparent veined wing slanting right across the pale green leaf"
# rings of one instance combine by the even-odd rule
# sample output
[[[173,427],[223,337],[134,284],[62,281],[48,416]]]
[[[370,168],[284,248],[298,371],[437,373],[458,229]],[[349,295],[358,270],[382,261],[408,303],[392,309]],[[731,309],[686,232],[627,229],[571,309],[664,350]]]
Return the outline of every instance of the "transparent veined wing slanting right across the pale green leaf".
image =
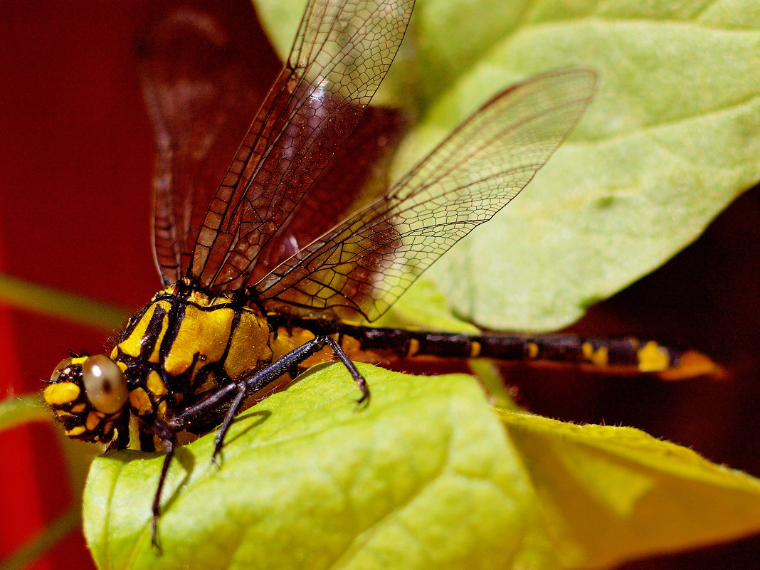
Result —
[[[284,261],[251,293],[280,312],[375,320],[530,182],[581,118],[595,84],[592,71],[555,71],[499,94],[387,195]]]

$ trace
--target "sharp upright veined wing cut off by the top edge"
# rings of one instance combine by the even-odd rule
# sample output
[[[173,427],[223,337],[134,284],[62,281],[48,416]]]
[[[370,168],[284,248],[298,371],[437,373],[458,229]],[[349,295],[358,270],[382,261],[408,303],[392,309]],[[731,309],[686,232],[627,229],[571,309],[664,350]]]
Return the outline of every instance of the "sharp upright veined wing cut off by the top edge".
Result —
[[[356,126],[404,37],[413,0],[309,0],[288,62],[209,207],[188,277],[241,287]],[[265,265],[266,260],[261,260]]]

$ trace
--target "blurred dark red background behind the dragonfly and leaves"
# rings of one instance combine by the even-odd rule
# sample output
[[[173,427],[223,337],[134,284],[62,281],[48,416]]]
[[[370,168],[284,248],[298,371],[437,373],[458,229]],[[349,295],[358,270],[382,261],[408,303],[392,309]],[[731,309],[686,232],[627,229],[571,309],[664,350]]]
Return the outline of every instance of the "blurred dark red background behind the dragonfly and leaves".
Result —
[[[139,28],[177,4],[0,3],[2,271],[127,309],[160,286],[147,233],[152,135],[131,49]],[[235,0],[214,9],[234,16],[240,40],[261,62],[258,88],[265,87],[277,65],[249,5]],[[575,327],[686,342],[724,363],[724,382],[520,368],[510,378],[522,403],[567,420],[641,427],[760,475],[758,213],[757,191],[739,198],[695,245]],[[0,306],[0,399],[40,390],[39,378],[69,349],[97,351],[106,337]],[[52,429],[0,432],[0,560],[79,500]],[[758,552],[755,538],[631,568],[754,568]],[[33,568],[91,565],[73,533]]]

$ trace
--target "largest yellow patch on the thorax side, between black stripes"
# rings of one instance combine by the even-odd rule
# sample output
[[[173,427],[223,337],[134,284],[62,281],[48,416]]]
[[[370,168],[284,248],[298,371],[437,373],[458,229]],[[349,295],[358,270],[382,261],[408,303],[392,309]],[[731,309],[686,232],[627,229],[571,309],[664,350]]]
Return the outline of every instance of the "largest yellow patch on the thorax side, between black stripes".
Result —
[[[166,355],[166,372],[173,376],[187,372],[196,354],[202,356],[198,364],[218,363],[230,339],[234,316],[235,311],[231,307],[201,311],[197,307],[188,306],[169,354]]]

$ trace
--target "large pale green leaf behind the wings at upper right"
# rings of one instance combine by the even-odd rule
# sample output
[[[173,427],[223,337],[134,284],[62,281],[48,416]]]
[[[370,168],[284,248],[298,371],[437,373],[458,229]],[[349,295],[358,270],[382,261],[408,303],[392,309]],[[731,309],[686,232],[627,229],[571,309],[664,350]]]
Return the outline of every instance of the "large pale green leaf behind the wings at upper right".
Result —
[[[303,4],[255,2],[280,53]],[[760,179],[756,2],[420,0],[404,43],[380,99],[422,119],[396,174],[519,79],[567,66],[600,75],[591,109],[524,194],[423,277],[479,325],[568,325]],[[408,307],[395,311],[408,320]]]

